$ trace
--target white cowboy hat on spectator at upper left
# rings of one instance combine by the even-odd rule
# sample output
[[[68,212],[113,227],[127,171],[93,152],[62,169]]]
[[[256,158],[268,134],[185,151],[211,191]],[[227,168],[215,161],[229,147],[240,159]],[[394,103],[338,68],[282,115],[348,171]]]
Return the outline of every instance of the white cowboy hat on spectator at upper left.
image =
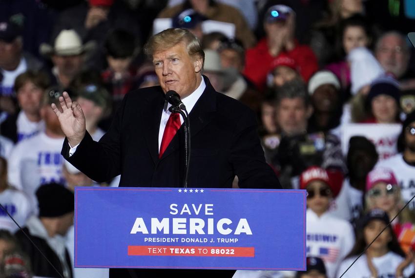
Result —
[[[78,33],[71,30],[62,30],[58,37],[55,39],[55,45],[51,46],[47,43],[42,43],[39,47],[39,52],[44,56],[50,56],[52,54],[59,56],[80,55],[85,52],[94,50],[96,47],[95,42],[89,41],[85,44],[82,43],[81,37]]]

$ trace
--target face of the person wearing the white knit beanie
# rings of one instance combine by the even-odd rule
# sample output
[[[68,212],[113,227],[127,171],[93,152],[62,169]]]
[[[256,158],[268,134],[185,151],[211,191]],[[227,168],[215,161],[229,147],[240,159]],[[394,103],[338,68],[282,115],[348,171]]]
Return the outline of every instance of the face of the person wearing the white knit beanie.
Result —
[[[318,112],[332,112],[337,108],[338,91],[332,84],[323,84],[311,96],[313,107]]]

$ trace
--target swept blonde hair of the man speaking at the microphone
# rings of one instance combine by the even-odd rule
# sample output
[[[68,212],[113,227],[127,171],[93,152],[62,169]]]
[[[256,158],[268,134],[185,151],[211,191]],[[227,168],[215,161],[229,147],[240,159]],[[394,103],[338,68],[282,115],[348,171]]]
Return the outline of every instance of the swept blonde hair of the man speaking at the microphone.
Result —
[[[197,37],[187,29],[169,28],[152,36],[144,46],[144,53],[151,58],[154,53],[165,51],[182,42],[187,47],[187,54],[190,57],[202,58],[203,65],[205,52],[203,52],[202,45]]]

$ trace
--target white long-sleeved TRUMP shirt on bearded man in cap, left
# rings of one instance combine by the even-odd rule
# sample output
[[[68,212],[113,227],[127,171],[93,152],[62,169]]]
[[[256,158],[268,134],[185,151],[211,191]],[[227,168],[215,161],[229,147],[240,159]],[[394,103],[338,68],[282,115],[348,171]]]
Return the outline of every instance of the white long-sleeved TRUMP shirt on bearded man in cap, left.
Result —
[[[64,138],[50,138],[44,132],[19,142],[9,159],[9,183],[23,190],[36,204],[35,192],[42,184],[64,184],[61,155]]]

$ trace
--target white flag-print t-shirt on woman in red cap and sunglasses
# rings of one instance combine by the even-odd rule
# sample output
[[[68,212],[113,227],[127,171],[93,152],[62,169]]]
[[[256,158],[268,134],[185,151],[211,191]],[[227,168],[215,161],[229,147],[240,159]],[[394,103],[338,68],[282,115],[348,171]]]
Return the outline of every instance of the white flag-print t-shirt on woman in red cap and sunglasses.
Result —
[[[318,217],[307,209],[306,240],[307,257],[322,258],[327,277],[334,278],[341,261],[353,248],[353,227],[348,221],[333,217],[330,213]]]

